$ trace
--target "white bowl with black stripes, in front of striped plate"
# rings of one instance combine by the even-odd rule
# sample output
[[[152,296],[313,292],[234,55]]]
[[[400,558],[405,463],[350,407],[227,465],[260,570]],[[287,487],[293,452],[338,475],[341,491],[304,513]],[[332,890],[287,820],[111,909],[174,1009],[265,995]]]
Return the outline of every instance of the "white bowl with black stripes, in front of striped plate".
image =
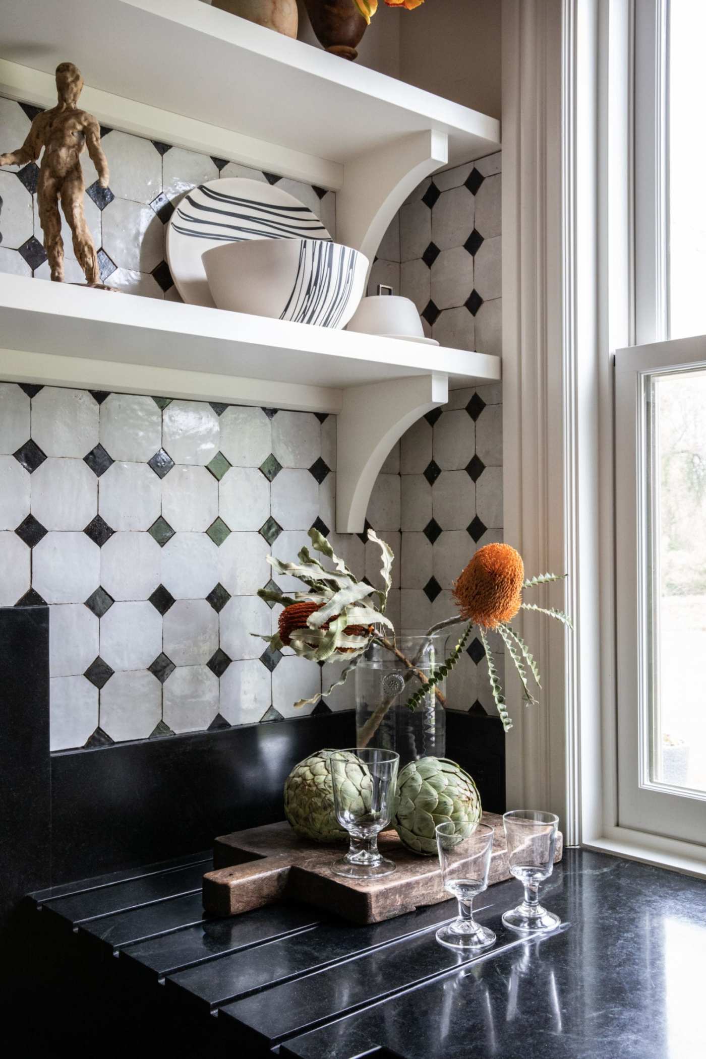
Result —
[[[219,309],[345,327],[363,297],[368,258],[328,239],[225,243],[201,255]]]

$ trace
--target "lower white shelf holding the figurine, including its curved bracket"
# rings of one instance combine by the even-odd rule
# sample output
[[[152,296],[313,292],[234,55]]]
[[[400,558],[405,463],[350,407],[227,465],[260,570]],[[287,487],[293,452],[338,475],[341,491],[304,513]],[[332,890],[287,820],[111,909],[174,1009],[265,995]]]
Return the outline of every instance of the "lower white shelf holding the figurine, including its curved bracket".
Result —
[[[498,357],[196,305],[0,275],[0,377],[335,412],[338,528],[363,528],[404,431]]]

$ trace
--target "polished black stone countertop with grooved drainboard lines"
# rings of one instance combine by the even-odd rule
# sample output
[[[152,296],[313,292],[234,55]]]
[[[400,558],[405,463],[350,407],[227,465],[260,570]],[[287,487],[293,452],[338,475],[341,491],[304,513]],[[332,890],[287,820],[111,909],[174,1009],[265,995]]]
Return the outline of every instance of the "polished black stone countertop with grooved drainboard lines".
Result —
[[[532,941],[506,930],[500,914],[522,891],[500,883],[477,901],[497,945],[464,962],[434,937],[455,904],[372,927],[304,905],[205,919],[198,880],[208,867],[89,881],[34,900],[77,931],[89,958],[96,945],[112,950],[126,977],[152,983],[195,1019],[216,1015],[240,1056],[706,1056],[706,882],[567,849],[541,895],[562,927]]]

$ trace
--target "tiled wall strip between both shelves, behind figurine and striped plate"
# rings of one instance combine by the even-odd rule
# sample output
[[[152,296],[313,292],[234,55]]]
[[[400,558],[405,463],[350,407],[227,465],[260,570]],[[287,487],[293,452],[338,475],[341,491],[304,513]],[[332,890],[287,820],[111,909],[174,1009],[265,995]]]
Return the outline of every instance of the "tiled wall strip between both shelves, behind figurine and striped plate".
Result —
[[[38,109],[0,96],[0,150],[15,150],[22,145]],[[335,237],[333,192],[105,126],[101,128],[101,137],[110,169],[109,186],[99,185],[86,151],[81,156],[81,164],[87,189],[86,221],[98,250],[101,279],[110,287],[130,294],[181,301],[166,264],[166,223],[174,211],[173,203],[184,192],[218,177],[248,177],[276,183],[308,205]],[[49,280],[37,210],[38,173],[34,162],[0,169],[0,272]],[[61,238],[65,280],[85,283],[63,215]]]

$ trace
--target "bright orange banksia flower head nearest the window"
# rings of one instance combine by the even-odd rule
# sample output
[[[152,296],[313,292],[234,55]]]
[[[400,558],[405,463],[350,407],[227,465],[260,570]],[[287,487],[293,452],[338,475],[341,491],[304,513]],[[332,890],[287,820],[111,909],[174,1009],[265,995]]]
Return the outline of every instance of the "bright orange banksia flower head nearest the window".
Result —
[[[519,610],[524,580],[525,566],[514,548],[486,544],[454,581],[454,598],[462,617],[495,629]]]

